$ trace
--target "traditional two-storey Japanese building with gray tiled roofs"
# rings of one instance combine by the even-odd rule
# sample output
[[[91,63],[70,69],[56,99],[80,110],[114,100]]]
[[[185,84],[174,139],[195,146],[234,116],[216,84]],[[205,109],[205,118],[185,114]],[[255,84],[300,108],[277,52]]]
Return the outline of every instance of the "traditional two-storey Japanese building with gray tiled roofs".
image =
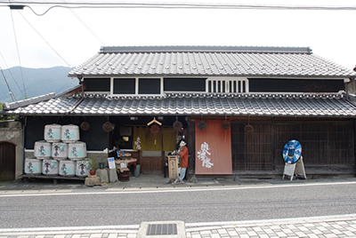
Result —
[[[352,175],[355,75],[310,48],[102,47],[69,72],[76,89],[0,113],[19,116],[28,152],[44,125],[76,124],[88,150],[130,150],[143,174],[185,139],[190,175],[279,176],[296,139],[307,174]]]

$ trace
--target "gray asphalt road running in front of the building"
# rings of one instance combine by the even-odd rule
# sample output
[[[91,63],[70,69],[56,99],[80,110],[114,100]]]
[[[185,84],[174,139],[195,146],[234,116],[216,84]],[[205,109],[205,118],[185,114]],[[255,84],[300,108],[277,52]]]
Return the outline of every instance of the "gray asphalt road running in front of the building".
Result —
[[[139,225],[356,213],[356,184],[0,195],[0,228]]]

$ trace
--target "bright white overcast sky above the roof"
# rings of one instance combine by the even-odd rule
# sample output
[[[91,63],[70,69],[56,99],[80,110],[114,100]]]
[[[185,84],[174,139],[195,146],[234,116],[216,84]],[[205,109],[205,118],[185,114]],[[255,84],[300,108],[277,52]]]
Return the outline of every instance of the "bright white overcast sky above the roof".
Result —
[[[177,2],[356,6],[354,0]],[[33,9],[43,13],[49,7]],[[309,46],[314,54],[352,69],[355,16],[356,11],[147,8],[53,8],[36,16],[28,8],[11,12],[3,4],[0,67],[77,67],[102,45],[247,45]]]

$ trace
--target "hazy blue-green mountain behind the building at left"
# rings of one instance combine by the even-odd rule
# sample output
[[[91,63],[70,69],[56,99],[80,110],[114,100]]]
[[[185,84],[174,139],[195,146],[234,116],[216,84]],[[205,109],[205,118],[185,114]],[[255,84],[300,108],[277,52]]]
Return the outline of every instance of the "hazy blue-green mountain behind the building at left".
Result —
[[[4,75],[0,75],[0,102],[12,102],[6,81],[17,100],[25,99],[25,95],[27,98],[32,98],[49,92],[55,92],[58,95],[78,85],[77,79],[71,79],[68,76],[71,67],[22,67],[22,74],[20,68],[4,69]],[[25,84],[26,94],[23,84]]]

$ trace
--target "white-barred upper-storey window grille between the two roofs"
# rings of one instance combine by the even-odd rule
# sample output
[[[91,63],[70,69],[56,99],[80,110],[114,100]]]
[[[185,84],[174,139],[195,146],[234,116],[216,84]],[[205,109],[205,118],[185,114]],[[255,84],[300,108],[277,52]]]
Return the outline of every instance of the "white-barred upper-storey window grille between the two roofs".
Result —
[[[248,79],[206,79],[206,92],[248,92]]]

